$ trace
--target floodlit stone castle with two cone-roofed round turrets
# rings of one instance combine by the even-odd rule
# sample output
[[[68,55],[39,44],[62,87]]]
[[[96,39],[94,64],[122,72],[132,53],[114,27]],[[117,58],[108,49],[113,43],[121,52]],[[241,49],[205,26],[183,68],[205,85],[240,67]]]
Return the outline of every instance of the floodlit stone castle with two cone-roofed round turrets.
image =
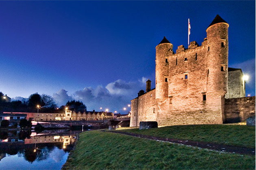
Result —
[[[157,121],[160,126],[226,122],[226,99],[245,97],[241,69],[228,68],[228,27],[217,15],[201,46],[193,41],[188,49],[178,46],[176,53],[163,38],[156,46],[156,88],[151,89],[148,80],[146,91],[131,100],[131,127],[140,121]],[[255,96],[243,101],[252,101],[249,114],[255,115]]]

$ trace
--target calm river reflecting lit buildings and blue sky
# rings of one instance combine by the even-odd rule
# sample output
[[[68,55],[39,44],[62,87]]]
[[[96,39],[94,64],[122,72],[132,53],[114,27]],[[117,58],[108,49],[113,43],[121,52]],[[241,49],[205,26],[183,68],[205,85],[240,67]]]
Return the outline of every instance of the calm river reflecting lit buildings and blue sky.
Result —
[[[80,132],[0,132],[0,170],[61,169]]]

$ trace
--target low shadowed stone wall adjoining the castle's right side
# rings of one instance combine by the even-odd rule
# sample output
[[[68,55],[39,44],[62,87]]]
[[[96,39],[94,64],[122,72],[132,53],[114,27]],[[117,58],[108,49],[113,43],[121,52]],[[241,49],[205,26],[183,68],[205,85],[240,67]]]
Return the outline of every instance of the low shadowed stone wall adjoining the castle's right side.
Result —
[[[255,116],[255,96],[225,99],[223,123],[237,123]]]

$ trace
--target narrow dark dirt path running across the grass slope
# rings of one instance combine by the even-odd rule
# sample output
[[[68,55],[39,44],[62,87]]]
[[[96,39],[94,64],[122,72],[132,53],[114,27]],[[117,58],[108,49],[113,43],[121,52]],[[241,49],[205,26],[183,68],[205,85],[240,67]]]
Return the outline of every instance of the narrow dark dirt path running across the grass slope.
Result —
[[[129,136],[135,136],[135,137],[139,137],[139,138],[147,138],[147,139],[157,140],[157,141],[162,141],[162,142],[172,142],[172,143],[184,144],[187,146],[205,148],[205,149],[210,149],[210,150],[214,150],[214,151],[237,153],[237,154],[241,154],[241,155],[244,155],[244,154],[255,155],[255,148],[235,147],[235,146],[230,146],[230,145],[225,145],[225,144],[196,142],[196,141],[191,141],[191,140],[158,138],[158,137],[147,136],[147,135],[143,135],[143,134],[133,134],[133,133],[129,133],[129,132],[121,132],[121,131],[113,131],[113,130],[110,130],[110,131],[104,130],[104,132],[125,134],[125,135],[129,135]]]

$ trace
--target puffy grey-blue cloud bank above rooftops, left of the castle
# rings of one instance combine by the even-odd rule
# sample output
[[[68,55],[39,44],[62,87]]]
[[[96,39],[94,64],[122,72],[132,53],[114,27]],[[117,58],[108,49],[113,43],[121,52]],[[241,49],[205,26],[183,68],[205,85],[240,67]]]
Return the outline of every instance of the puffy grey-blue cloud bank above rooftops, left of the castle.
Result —
[[[118,79],[117,81],[108,83],[106,87],[98,85],[97,87],[85,87],[82,90],[75,91],[70,96],[67,91],[61,89],[53,98],[58,104],[65,104],[67,100],[80,100],[86,106],[87,110],[100,110],[108,108],[111,111],[123,112],[123,108],[130,104],[130,100],[137,97],[140,89],[145,89],[147,78],[142,77],[137,81],[124,81]]]

